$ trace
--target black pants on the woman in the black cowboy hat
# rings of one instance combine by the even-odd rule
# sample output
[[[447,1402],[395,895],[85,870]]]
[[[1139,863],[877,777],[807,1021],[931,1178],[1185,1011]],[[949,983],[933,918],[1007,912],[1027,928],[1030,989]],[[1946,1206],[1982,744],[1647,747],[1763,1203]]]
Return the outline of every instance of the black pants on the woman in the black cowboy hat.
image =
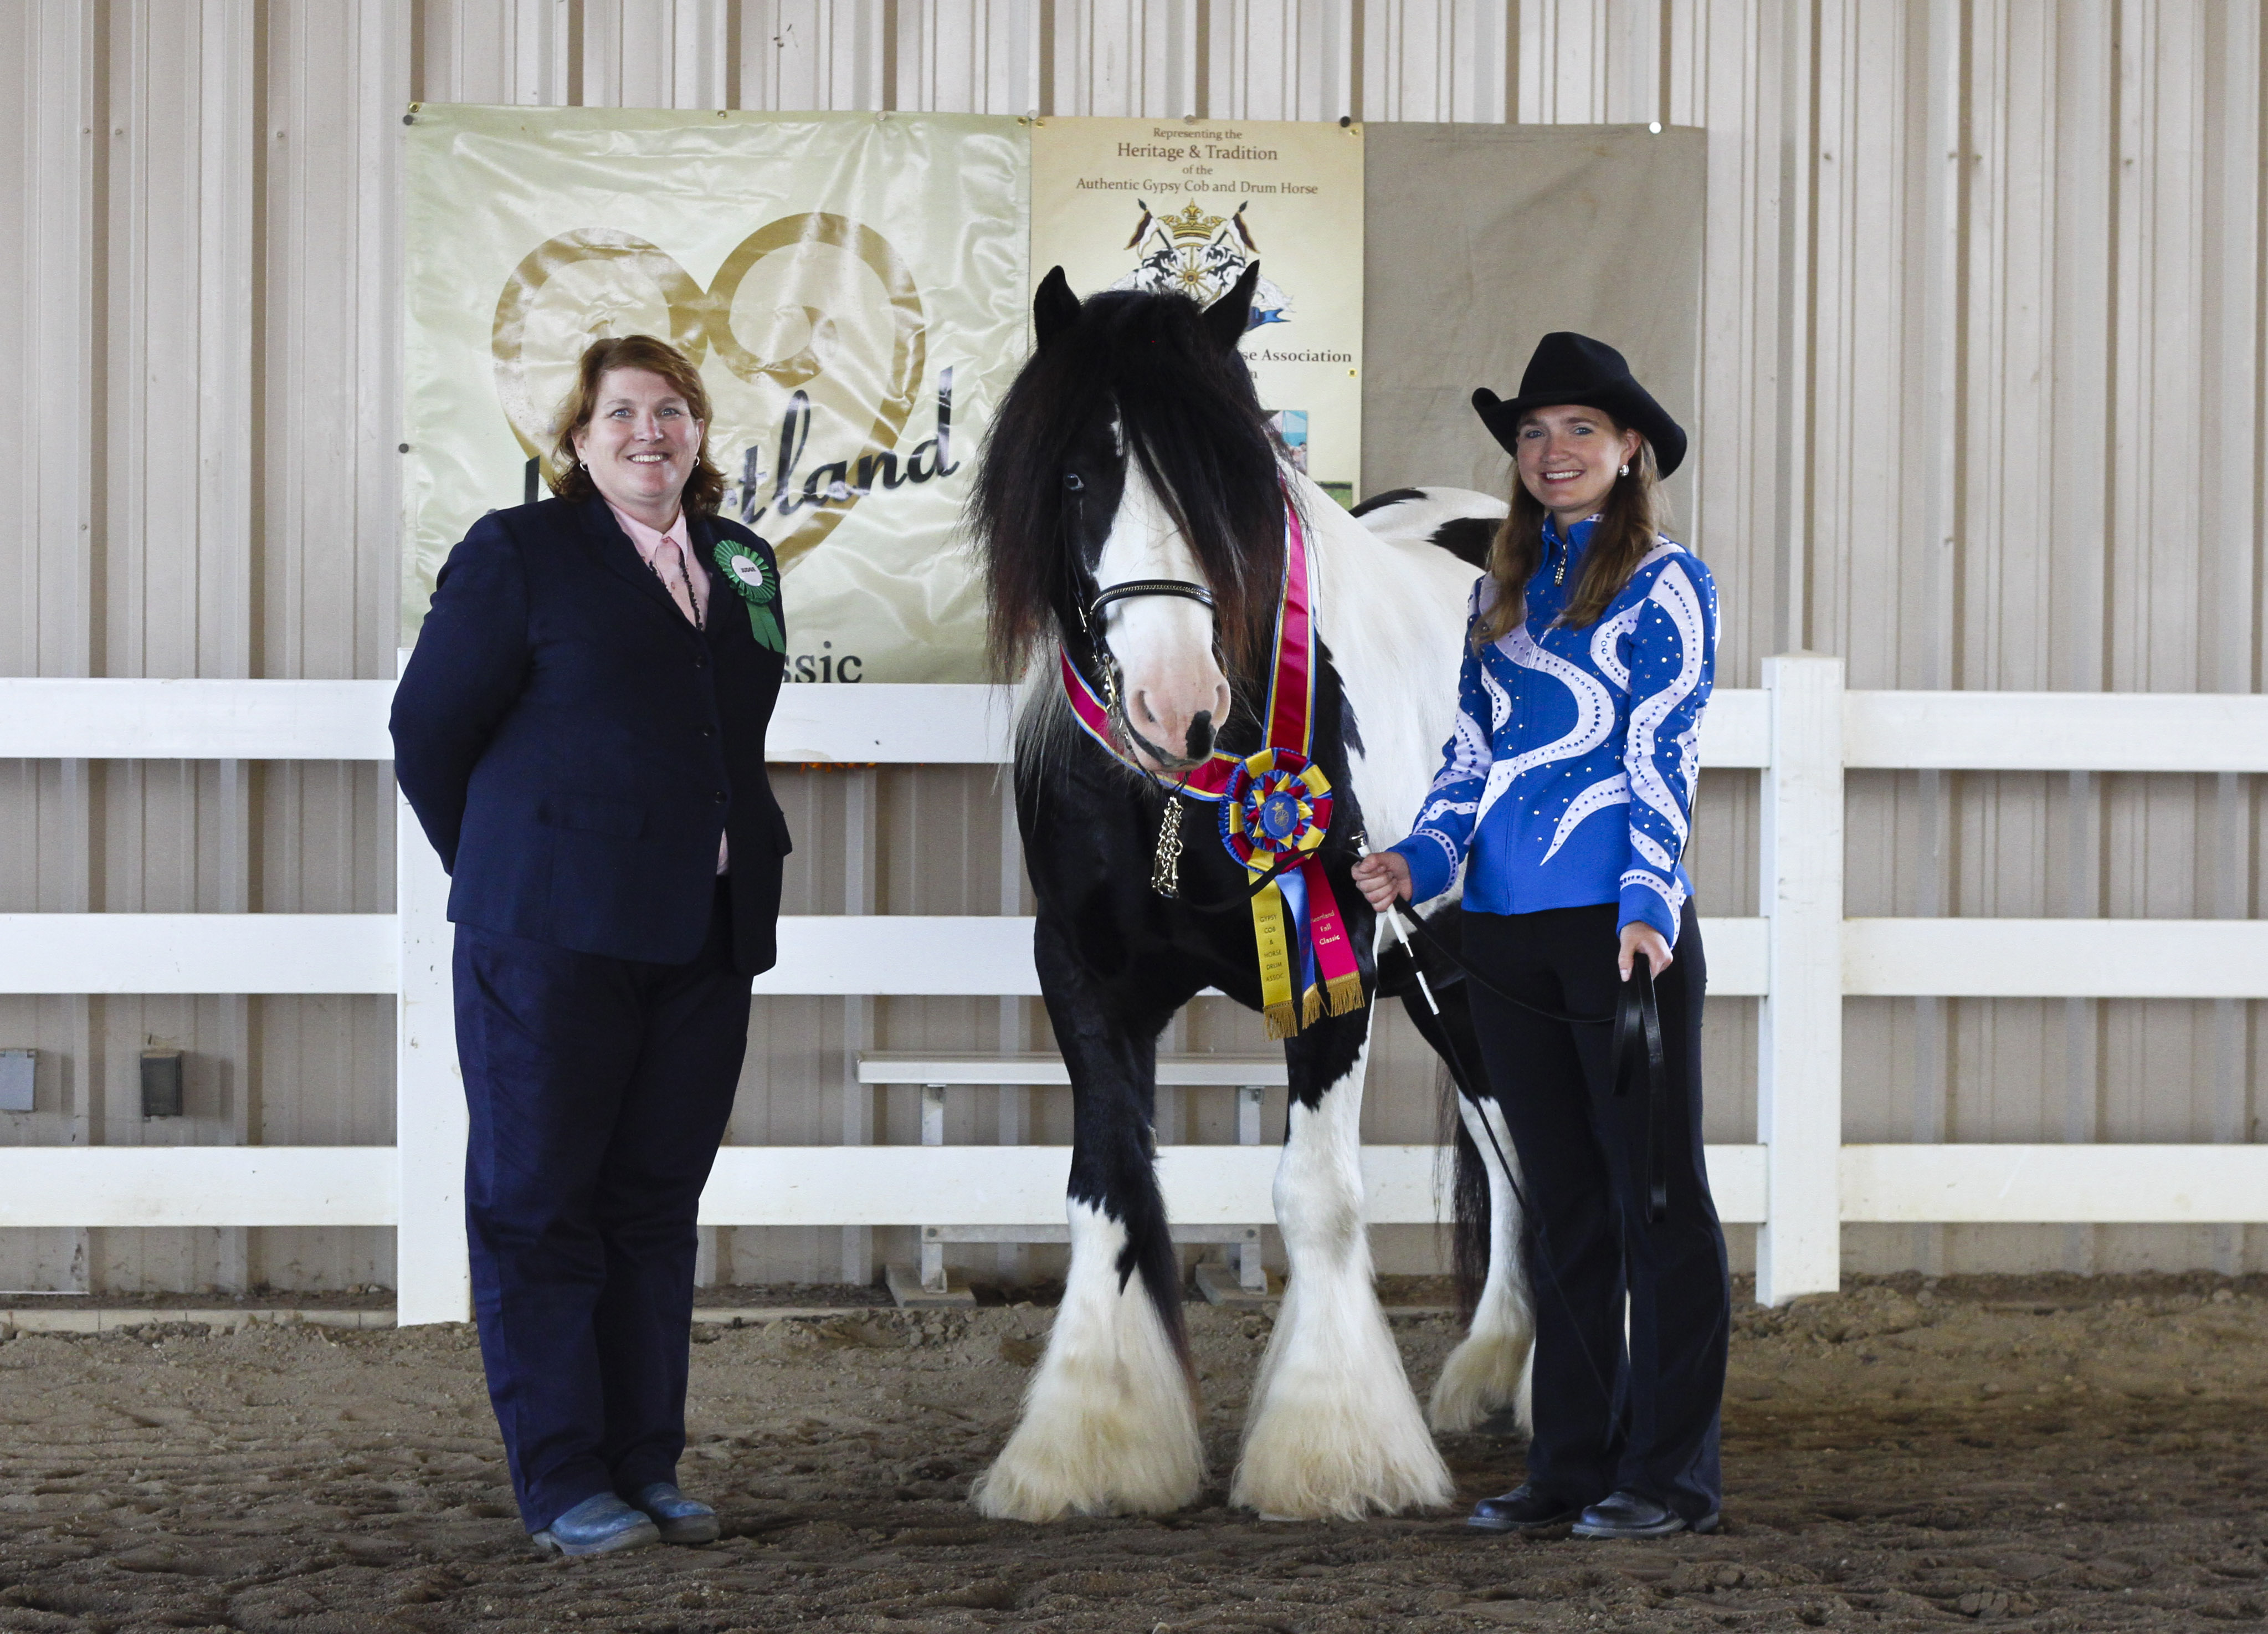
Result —
[[[1465,915],[1465,960],[1542,1010],[1610,1017],[1615,903]],[[1551,1021],[1467,983],[1488,1080],[1520,1153],[1535,1305],[1529,1484],[1567,1502],[1635,1491],[1687,1521],[1724,1500],[1717,1423],[1733,1294],[1701,1160],[1701,994],[1692,903],[1656,983],[1669,1083],[1669,1207],[1647,1223],[1647,1094],[1615,1094],[1603,1026]],[[1624,1344],[1628,1296],[1628,1344]]]

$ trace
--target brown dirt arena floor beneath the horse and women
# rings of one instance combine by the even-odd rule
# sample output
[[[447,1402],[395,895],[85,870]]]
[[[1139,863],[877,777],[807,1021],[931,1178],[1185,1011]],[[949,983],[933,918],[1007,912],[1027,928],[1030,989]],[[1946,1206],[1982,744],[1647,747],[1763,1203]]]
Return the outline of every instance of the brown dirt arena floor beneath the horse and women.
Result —
[[[1740,1314],[1726,1530],[1504,1541],[1222,1507],[1268,1319],[1191,1309],[1216,1480],[1163,1521],[964,1502],[1048,1309],[703,1328],[721,1543],[528,1552],[465,1330],[0,1341],[0,1629],[2229,1627],[2268,1616],[2268,1287],[1889,1280]],[[1442,1316],[1397,1316],[1429,1384]],[[1520,1446],[1447,1443],[1463,1498]]]

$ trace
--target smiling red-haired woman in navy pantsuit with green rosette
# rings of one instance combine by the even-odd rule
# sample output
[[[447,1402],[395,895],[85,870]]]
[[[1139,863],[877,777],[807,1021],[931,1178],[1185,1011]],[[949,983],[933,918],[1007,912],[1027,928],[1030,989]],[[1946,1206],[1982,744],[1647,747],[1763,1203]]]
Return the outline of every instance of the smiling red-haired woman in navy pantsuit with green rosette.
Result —
[[[685,1498],[694,1210],[773,965],[771,547],[717,515],[708,393],[594,343],[556,499],[449,554],[395,776],[449,869],[465,1226],[488,1396],[547,1552],[705,1543]]]

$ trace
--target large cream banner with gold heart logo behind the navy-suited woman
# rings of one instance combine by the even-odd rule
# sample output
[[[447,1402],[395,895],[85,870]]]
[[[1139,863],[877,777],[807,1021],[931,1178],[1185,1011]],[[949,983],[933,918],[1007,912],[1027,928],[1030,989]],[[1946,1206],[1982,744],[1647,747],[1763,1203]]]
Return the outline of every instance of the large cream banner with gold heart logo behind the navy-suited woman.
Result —
[[[424,104],[406,136],[404,645],[465,529],[538,497],[583,347],[653,334],[780,554],[789,676],[987,679],[959,513],[1027,345],[1023,120]]]

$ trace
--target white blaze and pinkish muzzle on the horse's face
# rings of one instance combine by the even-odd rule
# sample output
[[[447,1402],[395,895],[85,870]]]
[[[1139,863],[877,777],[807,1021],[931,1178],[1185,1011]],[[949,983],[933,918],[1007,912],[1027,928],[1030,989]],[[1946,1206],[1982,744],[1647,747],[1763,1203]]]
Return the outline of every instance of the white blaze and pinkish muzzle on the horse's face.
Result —
[[[1125,495],[1111,517],[1111,536],[1095,561],[1095,586],[1134,579],[1182,579],[1204,583],[1198,556],[1175,527],[1139,458],[1127,458]],[[1152,772],[1170,772],[1211,751],[1209,731],[1229,717],[1229,679],[1213,656],[1211,608],[1177,595],[1145,595],[1102,608],[1102,638],[1118,660],[1125,717],[1136,733],[1134,760]],[[1198,756],[1191,726],[1204,713]]]

